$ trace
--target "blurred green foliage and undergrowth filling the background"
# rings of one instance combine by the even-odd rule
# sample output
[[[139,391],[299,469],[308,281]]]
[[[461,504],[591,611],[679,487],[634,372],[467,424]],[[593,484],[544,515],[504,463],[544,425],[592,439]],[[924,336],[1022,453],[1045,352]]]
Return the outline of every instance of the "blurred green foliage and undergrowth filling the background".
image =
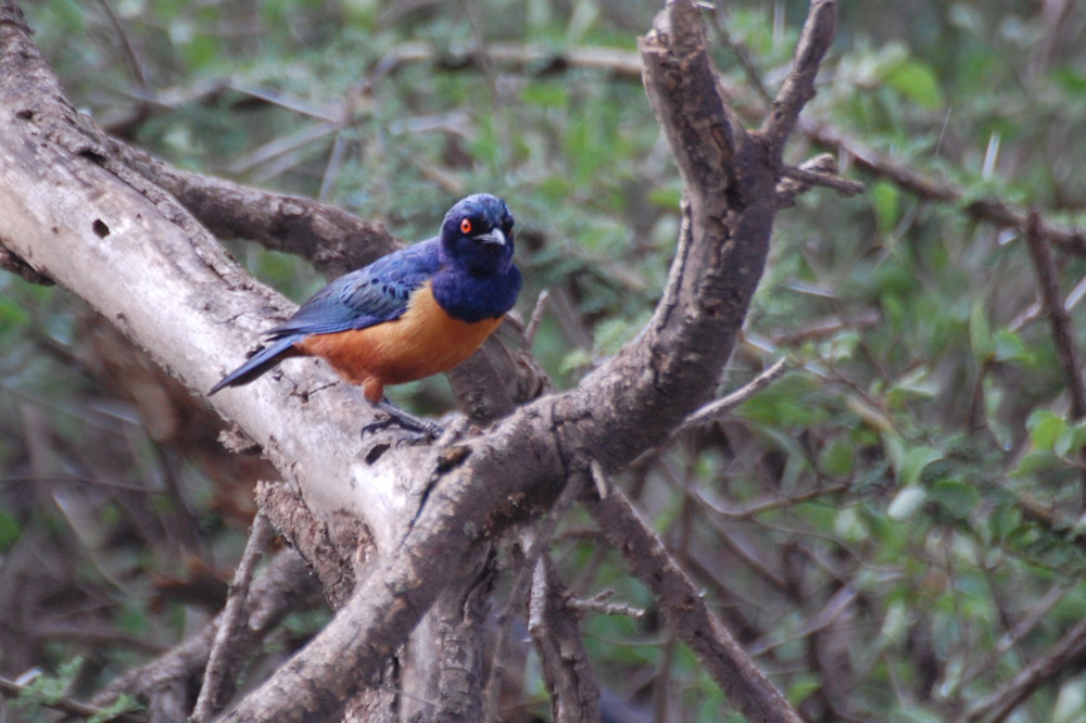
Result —
[[[115,132],[176,165],[324,198],[407,239],[431,234],[451,199],[500,192],[518,218],[521,312],[553,294],[535,353],[559,385],[645,322],[681,186],[640,85],[466,52],[632,51],[657,3],[124,0],[113,8],[123,37],[105,4],[26,11],[66,90]],[[762,101],[740,51],[772,91],[803,8],[728,4],[732,42],[715,43],[741,111]],[[1011,2],[845,3],[805,114],[963,201],[921,198],[843,157],[867,192],[816,190],[779,217],[727,386],[780,356],[792,371],[618,481],[812,720],[961,718],[1086,612],[1086,422],[1068,411],[1032,307],[1023,239],[967,207],[999,199],[1065,227],[1086,218],[1084,24],[1073,3],[1056,21]],[[437,56],[382,65],[418,43]],[[132,122],[147,94],[166,102]],[[791,156],[818,150],[801,140]],[[293,259],[231,248],[296,299],[320,283]],[[1065,295],[1084,272],[1081,257],[1059,258]],[[50,560],[48,583],[30,578],[35,599],[52,600],[38,622],[109,631],[90,645],[42,623],[20,638],[27,654],[5,651],[0,667],[17,675],[13,665],[84,655],[90,690],[134,662],[132,638],[168,645],[214,609],[190,583],[198,570],[228,574],[240,525],[215,507],[204,472],[84,373],[72,300],[10,276],[0,292],[0,566],[25,574],[17,560]],[[1071,315],[1081,338],[1083,312]],[[447,399],[442,384],[408,395]],[[571,515],[555,544],[569,586],[646,609],[585,617],[604,686],[656,720],[719,720],[722,694],[585,524]],[[174,575],[188,593],[164,583]],[[544,714],[542,683],[528,678],[525,699]],[[1077,669],[1060,671],[1020,720],[1079,720],[1084,685]]]

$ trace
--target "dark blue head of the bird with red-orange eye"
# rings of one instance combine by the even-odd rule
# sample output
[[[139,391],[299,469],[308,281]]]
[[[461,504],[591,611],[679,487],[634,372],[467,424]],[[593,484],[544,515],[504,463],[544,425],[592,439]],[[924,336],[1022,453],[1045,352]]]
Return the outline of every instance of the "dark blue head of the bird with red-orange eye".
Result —
[[[476,193],[445,214],[442,256],[478,276],[505,274],[513,265],[513,214],[505,201]]]

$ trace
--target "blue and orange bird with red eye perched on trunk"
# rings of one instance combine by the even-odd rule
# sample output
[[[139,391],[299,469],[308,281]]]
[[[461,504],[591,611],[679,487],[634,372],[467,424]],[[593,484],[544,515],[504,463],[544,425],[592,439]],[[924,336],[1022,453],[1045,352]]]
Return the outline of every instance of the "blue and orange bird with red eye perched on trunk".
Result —
[[[293,356],[325,359],[388,418],[435,437],[442,428],[393,405],[384,388],[447,371],[502,324],[520,293],[514,218],[505,201],[476,193],[445,214],[438,237],[346,274],[315,293],[266,345],[207,393],[248,384]]]

